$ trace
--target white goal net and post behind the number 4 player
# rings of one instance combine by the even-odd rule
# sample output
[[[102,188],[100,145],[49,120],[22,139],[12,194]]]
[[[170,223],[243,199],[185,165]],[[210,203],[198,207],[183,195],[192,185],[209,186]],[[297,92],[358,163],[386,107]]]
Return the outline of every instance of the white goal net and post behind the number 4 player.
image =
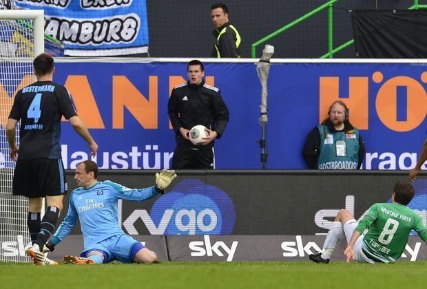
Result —
[[[15,163],[5,129],[14,95],[34,82],[32,60],[44,50],[43,23],[43,10],[0,10],[0,261],[30,261],[25,256],[28,200],[12,197]]]

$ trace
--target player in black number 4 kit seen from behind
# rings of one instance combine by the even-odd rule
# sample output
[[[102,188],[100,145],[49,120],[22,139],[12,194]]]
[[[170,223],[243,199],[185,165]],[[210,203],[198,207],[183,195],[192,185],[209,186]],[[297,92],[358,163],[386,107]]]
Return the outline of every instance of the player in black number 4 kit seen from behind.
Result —
[[[98,144],[84,122],[77,116],[70,94],[63,85],[53,82],[54,59],[50,54],[34,58],[37,81],[17,92],[6,125],[10,158],[17,162],[14,169],[12,195],[28,197],[28,230],[32,247],[27,254],[36,265],[57,265],[45,257],[43,246],[54,233],[56,221],[67,193],[65,171],[61,160],[61,118],[89,144],[96,155]],[[16,126],[21,120],[20,147],[15,141]],[[41,220],[43,197],[47,208]]]

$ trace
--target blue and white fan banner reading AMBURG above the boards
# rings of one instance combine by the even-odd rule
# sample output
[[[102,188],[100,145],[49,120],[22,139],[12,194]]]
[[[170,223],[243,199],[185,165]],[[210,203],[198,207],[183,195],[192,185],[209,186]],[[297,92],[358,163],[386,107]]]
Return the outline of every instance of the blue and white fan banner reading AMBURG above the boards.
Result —
[[[67,56],[148,52],[145,0],[17,0],[23,9],[45,10],[45,34],[65,43]]]

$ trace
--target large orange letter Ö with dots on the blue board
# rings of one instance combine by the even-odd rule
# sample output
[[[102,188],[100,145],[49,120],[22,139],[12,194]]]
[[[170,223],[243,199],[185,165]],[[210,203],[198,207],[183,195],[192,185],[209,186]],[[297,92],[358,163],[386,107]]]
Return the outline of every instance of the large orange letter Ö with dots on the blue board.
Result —
[[[379,74],[379,72],[375,72]],[[374,75],[375,75],[374,74]],[[424,80],[423,76],[421,79]],[[375,79],[374,79],[375,81]],[[377,82],[377,81],[375,81]],[[407,119],[397,120],[397,87],[406,87],[407,92]],[[394,131],[410,131],[418,127],[427,113],[427,95],[424,87],[408,76],[396,76],[386,81],[379,88],[375,107],[379,120]]]

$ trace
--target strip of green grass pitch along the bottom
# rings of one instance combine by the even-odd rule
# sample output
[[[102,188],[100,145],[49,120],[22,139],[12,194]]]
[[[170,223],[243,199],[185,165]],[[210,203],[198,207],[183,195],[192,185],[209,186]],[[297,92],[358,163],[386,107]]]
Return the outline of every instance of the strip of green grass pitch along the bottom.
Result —
[[[165,262],[64,265],[0,263],[1,288],[426,288],[427,261],[396,264]]]

